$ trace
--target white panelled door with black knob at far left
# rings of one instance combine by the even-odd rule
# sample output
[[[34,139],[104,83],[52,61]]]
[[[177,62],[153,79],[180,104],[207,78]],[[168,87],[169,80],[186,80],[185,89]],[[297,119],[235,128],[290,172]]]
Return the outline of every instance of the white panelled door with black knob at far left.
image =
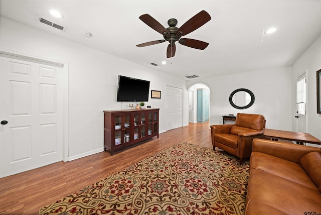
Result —
[[[62,71],[0,56],[0,177],[63,160]]]

